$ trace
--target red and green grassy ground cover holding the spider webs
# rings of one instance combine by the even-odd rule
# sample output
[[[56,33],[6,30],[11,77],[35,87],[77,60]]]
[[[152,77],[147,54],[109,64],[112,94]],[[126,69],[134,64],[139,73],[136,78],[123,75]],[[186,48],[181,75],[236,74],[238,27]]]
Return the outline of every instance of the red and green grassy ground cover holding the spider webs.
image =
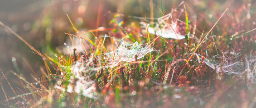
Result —
[[[0,104],[13,108],[256,107],[256,2],[177,1],[165,8],[168,1],[159,1],[147,1],[148,11],[140,16],[122,9],[107,10],[104,16],[101,6],[107,2],[100,0],[94,10],[96,26],[89,30],[81,29],[81,17],[65,14],[68,23],[62,25],[68,31],[62,32],[63,45],[54,46],[54,29],[48,26],[43,52],[14,27],[0,22],[5,32],[24,42],[43,62],[40,74],[32,67],[33,74],[22,74],[15,57],[15,71],[0,69],[2,83],[10,88],[1,83],[5,99]],[[135,2],[143,7],[144,1],[130,3]],[[78,13],[85,11],[80,6]],[[205,10],[208,6],[216,10]]]

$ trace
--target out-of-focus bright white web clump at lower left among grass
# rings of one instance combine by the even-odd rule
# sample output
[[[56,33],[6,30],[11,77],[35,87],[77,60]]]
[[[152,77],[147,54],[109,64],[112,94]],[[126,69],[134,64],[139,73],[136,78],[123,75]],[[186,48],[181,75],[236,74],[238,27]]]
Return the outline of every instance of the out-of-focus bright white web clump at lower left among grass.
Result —
[[[75,61],[70,68],[70,84],[67,87],[67,92],[82,94],[85,97],[96,99],[94,95],[96,92],[96,83],[90,77],[100,70],[100,67],[95,67],[93,64],[93,55],[89,59],[80,59]],[[75,79],[75,80],[74,80]],[[76,82],[73,82],[76,81]],[[65,88],[55,85],[57,89],[65,90]]]

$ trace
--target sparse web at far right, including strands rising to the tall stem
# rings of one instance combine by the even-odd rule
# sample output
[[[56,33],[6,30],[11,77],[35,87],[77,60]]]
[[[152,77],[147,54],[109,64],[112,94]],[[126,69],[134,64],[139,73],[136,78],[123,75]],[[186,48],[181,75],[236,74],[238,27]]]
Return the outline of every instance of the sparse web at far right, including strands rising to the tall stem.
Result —
[[[235,74],[240,77],[246,76],[246,84],[250,88],[252,84],[256,83],[256,57],[247,56],[241,53],[224,52],[221,45],[217,40],[219,37],[208,36],[213,39],[214,47],[217,50],[217,46],[222,51],[222,54],[209,56],[204,59],[204,63],[209,67],[216,70],[216,72],[224,72],[226,74]],[[229,57],[228,55],[232,55]]]

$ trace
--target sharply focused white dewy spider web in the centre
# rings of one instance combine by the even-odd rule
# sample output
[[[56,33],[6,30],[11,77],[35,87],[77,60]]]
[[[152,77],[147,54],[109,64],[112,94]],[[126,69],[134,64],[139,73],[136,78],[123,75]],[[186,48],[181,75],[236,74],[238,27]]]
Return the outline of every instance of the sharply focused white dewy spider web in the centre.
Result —
[[[114,51],[103,54],[105,55],[105,63],[107,66],[115,67],[121,62],[132,62],[136,59],[143,58],[145,54],[152,51],[156,51],[149,43],[139,44],[137,41],[133,44],[129,44],[124,40],[121,40],[120,45]]]

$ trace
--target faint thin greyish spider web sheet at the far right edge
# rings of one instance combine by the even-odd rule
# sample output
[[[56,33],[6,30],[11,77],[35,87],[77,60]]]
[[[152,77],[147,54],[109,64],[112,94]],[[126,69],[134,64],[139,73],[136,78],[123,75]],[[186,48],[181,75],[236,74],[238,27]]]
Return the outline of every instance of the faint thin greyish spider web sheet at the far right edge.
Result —
[[[215,55],[211,58],[205,58],[204,63],[215,69],[217,72],[236,74],[240,77],[244,77],[242,74],[246,74],[247,87],[251,88],[252,84],[256,84],[256,57],[245,55],[245,60],[238,61],[238,56],[239,54],[236,54],[231,58],[228,58],[225,54],[223,54],[222,57]],[[220,59],[221,62],[217,62],[217,59]]]

